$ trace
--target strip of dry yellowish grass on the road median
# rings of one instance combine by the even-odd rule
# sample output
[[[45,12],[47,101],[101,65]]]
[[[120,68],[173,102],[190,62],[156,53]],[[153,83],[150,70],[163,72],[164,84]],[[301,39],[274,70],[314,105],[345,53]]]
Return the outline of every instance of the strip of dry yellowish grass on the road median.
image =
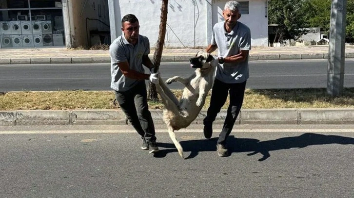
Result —
[[[177,97],[181,90],[173,90]],[[204,109],[208,108],[210,93]],[[228,101],[223,108],[227,108]],[[149,101],[150,109],[163,109],[160,101]],[[242,108],[354,108],[354,88],[331,97],[326,89],[247,89]],[[0,111],[118,109],[113,91],[8,92],[0,94]]]

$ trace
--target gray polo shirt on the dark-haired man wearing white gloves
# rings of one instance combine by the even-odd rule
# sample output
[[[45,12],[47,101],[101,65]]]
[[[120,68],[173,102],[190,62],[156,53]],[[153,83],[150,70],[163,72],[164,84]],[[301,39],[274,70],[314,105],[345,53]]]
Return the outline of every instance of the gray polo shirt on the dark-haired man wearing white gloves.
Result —
[[[150,43],[146,36],[139,35],[138,43],[134,46],[122,34],[112,42],[109,53],[111,56],[111,88],[113,90],[127,91],[134,87],[138,81],[141,81],[124,76],[118,63],[128,61],[130,69],[145,73],[142,66],[142,56],[150,53]]]

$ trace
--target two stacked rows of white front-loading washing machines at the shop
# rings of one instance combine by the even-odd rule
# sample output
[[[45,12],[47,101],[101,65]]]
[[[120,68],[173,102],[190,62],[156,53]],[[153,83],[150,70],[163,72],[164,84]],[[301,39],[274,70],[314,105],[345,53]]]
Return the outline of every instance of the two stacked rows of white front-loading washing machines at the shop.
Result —
[[[52,21],[0,21],[0,48],[42,46],[53,46]]]

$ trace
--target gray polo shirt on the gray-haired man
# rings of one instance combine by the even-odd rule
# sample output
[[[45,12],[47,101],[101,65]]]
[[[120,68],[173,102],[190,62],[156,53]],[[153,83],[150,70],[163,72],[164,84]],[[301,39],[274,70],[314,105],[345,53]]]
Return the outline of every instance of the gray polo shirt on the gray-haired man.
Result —
[[[243,23],[237,21],[231,33],[224,28],[225,21],[216,23],[213,28],[211,44],[217,45],[219,57],[229,57],[238,54],[238,50],[251,49],[251,31]],[[225,83],[245,82],[249,77],[248,57],[242,63],[218,64],[216,79]]]

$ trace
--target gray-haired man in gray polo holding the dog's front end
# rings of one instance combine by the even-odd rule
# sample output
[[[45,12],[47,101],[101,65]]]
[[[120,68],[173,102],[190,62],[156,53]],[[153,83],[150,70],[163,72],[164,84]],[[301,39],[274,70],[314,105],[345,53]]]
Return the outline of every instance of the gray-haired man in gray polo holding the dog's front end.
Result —
[[[216,68],[210,107],[203,122],[205,138],[211,138],[213,121],[230,93],[230,104],[224,126],[216,144],[219,156],[228,156],[226,139],[241,109],[246,81],[249,77],[248,53],[251,49],[251,32],[245,24],[237,21],[241,17],[239,6],[240,4],[234,0],[226,2],[222,11],[225,21],[214,25],[211,44],[206,49],[208,53],[218,49],[219,64]]]

